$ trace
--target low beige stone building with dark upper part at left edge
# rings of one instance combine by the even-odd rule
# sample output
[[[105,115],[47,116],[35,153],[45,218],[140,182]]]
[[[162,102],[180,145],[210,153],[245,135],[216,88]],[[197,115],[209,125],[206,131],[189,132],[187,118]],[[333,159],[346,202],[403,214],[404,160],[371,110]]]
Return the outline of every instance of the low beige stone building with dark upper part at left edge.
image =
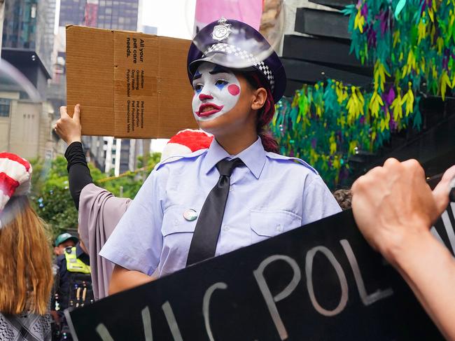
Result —
[[[4,72],[0,77],[0,151],[17,153],[24,158],[53,158],[55,141],[52,136],[53,109],[39,92],[27,92],[30,88],[42,89],[50,78],[43,63],[34,51],[3,49],[2,57],[27,76],[21,80]]]

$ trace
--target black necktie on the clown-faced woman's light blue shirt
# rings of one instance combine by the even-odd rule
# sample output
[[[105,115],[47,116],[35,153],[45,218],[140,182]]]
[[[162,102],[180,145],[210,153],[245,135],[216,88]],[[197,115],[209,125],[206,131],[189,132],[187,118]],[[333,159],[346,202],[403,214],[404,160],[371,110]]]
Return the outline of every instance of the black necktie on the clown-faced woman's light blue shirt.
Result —
[[[215,256],[216,244],[220,235],[226,201],[228,200],[230,176],[235,167],[244,166],[239,158],[221,160],[216,164],[220,179],[212,188],[202,206],[197,219],[186,266]]]

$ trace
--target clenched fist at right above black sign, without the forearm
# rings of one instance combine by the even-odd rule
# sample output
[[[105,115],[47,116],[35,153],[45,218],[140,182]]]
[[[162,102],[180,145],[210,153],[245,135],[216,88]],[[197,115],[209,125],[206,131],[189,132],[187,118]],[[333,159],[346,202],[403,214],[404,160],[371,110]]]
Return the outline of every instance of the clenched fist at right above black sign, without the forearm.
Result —
[[[353,183],[353,214],[368,242],[393,263],[391,251],[409,238],[429,233],[429,227],[447,207],[447,187],[446,183],[445,201],[438,204],[437,188],[432,193],[419,162],[388,159],[383,167],[372,169]]]

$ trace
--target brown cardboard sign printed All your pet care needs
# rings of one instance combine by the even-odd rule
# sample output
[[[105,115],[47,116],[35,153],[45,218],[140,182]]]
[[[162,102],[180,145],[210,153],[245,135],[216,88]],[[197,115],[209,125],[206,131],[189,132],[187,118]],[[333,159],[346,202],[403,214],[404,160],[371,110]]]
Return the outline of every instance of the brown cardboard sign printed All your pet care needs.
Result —
[[[169,138],[197,128],[188,81],[190,41],[66,27],[66,99],[80,103],[82,134]]]

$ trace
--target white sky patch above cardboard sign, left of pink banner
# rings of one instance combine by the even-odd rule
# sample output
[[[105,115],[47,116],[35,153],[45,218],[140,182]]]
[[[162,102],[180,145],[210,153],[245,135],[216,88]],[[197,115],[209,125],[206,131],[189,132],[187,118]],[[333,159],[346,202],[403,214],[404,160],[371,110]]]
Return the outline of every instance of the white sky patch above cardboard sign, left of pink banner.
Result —
[[[196,0],[142,0],[142,24],[158,35],[192,39]]]

